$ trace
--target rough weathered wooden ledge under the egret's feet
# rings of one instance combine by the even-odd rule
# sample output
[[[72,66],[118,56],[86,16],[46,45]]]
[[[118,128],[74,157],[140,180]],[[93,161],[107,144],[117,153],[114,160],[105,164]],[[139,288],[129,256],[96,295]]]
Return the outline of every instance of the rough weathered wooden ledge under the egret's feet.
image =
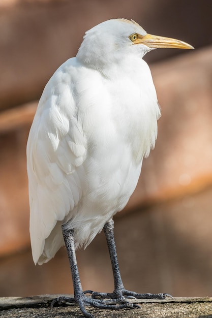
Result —
[[[58,295],[41,295],[27,298],[9,297],[0,298],[0,316],[9,317],[43,317],[62,318],[83,317],[78,305],[66,307],[54,307],[51,312],[49,305]],[[92,307],[88,311],[95,317],[136,317],[136,318],[211,318],[212,317],[212,297],[178,297],[167,298],[165,300],[143,300],[133,299],[133,303],[138,303],[140,309],[122,310],[100,310]]]

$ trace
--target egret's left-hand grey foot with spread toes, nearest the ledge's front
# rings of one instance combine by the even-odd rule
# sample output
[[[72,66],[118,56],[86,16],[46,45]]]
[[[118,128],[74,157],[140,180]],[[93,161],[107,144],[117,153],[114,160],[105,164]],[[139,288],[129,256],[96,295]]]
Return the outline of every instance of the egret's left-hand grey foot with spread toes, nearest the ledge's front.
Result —
[[[85,292],[89,293],[92,291],[85,291]],[[120,299],[117,299],[117,298],[102,299],[102,298],[95,298],[95,297],[91,298],[91,297],[85,296],[86,294],[85,292],[84,294],[77,295],[76,298],[60,296],[51,302],[50,308],[52,310],[53,305],[55,303],[57,303],[58,305],[62,305],[62,304],[69,305],[70,303],[78,303],[82,313],[84,314],[85,317],[88,317],[88,318],[94,318],[94,316],[91,313],[89,313],[87,310],[85,310],[85,306],[92,306],[99,309],[113,309],[113,310],[124,309],[124,308],[129,308],[129,309],[140,308],[139,305],[130,303],[123,296]]]

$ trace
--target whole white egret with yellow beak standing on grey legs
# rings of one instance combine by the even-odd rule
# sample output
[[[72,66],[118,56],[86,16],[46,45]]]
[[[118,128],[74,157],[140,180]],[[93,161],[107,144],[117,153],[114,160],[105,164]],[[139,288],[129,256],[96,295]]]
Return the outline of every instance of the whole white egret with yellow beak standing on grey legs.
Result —
[[[149,35],[133,20],[111,19],[88,30],[76,57],[63,63],[44,88],[29,133],[33,260],[39,265],[48,262],[65,241],[74,299],[61,296],[57,302],[77,302],[85,317],[93,316],[85,310],[87,304],[134,308],[137,305],[125,296],[167,295],[125,290],[112,220],[126,206],[138,182],[143,157],[155,145],[160,108],[142,57],[165,47],[193,48],[179,40]],[[86,247],[103,228],[114,292],[83,292],[75,249]],[[92,298],[85,295],[88,292]]]

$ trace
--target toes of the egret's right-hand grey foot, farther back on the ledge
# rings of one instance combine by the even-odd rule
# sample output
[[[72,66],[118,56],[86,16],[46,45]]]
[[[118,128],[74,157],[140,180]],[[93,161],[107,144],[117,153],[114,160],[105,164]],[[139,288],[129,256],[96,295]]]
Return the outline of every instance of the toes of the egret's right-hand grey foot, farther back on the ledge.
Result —
[[[126,298],[134,298],[134,299],[165,299],[166,297],[173,298],[169,294],[139,294],[131,291],[127,291],[126,289],[114,290],[113,293],[99,293],[93,291],[85,291],[85,294],[91,294],[94,299],[103,299],[103,298],[111,298],[111,299],[126,299]]]

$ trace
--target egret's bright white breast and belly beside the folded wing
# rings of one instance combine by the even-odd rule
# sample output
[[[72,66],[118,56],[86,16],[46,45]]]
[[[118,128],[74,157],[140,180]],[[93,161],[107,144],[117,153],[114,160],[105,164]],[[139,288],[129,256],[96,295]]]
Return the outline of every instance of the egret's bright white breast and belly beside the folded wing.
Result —
[[[86,197],[104,211],[124,208],[136,187],[143,156],[155,143],[157,98],[141,84],[130,78],[112,82],[100,77],[87,96],[84,90],[86,116],[83,107],[78,116],[87,138]]]

